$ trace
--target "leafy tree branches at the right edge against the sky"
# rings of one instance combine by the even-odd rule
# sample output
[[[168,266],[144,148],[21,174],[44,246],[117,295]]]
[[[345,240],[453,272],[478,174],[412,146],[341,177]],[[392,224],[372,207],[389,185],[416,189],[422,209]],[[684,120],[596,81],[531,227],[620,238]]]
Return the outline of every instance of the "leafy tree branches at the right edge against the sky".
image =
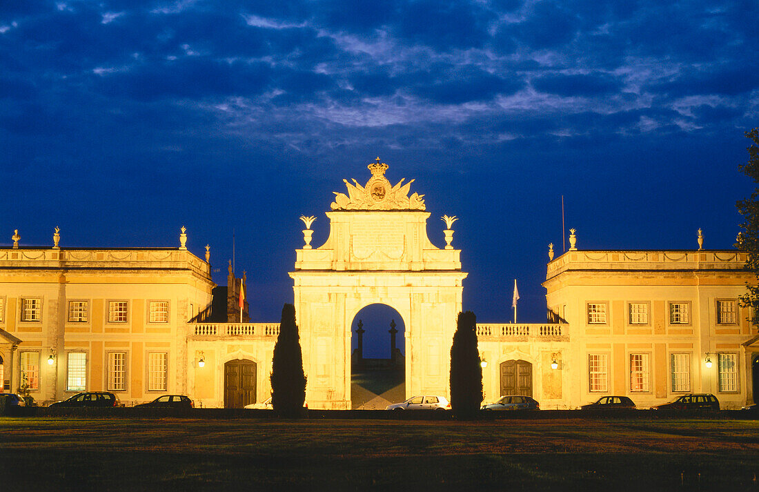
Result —
[[[748,146],[748,162],[739,166],[739,169],[754,183],[759,183],[759,128],[745,132],[745,136],[751,139]],[[738,211],[743,216],[744,222],[739,227],[741,232],[735,243],[735,248],[747,253],[746,270],[751,270],[759,279],[759,188],[754,188],[751,197],[739,200]],[[759,285],[747,285],[748,292],[741,296],[741,304],[753,308],[751,310],[751,324],[759,325]]]

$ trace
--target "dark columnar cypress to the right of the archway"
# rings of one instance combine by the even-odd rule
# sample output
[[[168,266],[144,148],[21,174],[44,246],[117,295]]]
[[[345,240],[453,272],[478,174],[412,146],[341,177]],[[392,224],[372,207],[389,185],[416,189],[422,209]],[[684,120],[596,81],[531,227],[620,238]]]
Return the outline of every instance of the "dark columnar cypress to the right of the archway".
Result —
[[[477,351],[477,317],[458,314],[451,345],[451,408],[459,418],[474,418],[482,403],[482,367]]]

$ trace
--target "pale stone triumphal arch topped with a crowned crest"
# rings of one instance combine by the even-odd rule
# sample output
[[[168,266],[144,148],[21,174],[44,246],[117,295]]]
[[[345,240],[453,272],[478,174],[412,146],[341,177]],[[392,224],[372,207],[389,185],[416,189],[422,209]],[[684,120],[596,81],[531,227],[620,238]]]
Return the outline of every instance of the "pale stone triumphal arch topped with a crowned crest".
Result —
[[[366,185],[344,179],[348,193],[334,192],[324,244],[311,247],[313,217],[301,217],[306,244],[296,250],[290,276],[310,408],[351,408],[351,322],[376,303],[398,311],[406,326],[406,395],[449,395],[450,349],[467,276],[461,251],[451,245],[455,217],[444,216],[446,246],[437,248],[427,237],[424,195],[409,196],[414,180],[391,185],[379,158],[367,167]]]

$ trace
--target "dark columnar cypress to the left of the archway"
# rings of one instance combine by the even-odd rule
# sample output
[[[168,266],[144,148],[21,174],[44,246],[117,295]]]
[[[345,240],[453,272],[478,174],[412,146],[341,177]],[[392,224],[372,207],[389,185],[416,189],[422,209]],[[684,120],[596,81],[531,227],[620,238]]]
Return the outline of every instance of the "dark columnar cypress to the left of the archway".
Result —
[[[295,307],[285,304],[279,336],[272,357],[272,407],[279,415],[296,418],[303,414],[306,400],[306,376],[303,373],[298,325],[295,324]]]

